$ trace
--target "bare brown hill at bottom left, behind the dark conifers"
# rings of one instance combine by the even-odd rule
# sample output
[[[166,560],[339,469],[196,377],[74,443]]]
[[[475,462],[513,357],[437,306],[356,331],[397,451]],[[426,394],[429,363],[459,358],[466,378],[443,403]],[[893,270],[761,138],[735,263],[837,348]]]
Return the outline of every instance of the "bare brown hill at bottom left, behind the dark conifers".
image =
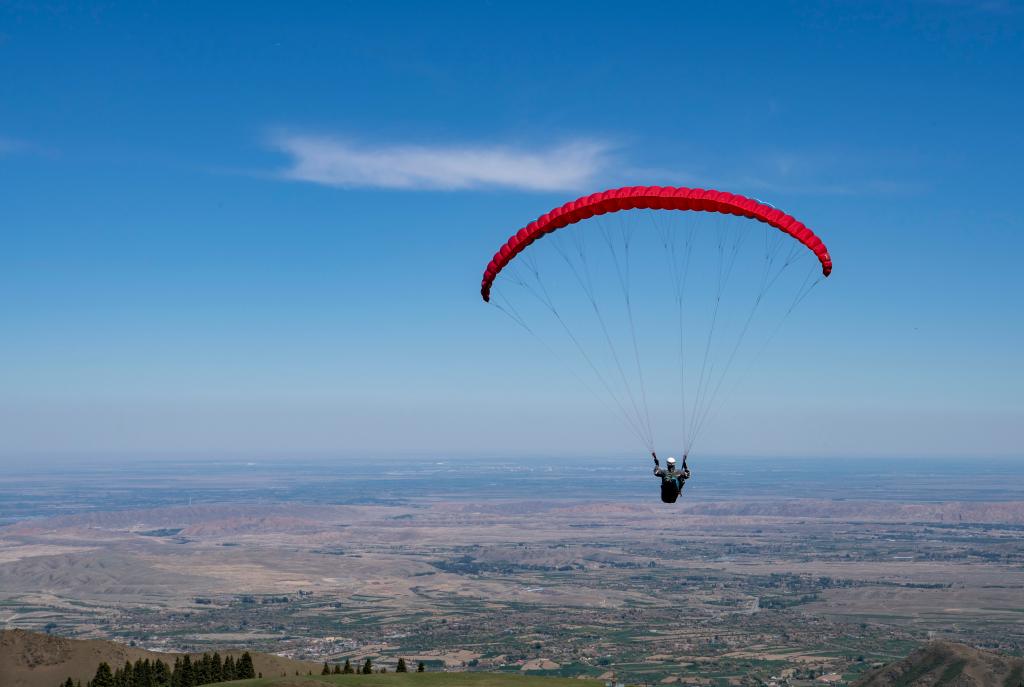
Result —
[[[221,656],[242,655],[241,651],[221,651]],[[92,679],[96,667],[106,661],[111,668],[124,665],[126,660],[162,659],[173,663],[179,654],[146,651],[117,642],[99,639],[67,639],[25,630],[0,631],[0,687],[57,687],[69,677],[73,680]],[[202,654],[191,654],[193,656]],[[319,673],[322,663],[292,660],[265,653],[251,653],[253,665],[264,676],[294,675],[299,671]]]

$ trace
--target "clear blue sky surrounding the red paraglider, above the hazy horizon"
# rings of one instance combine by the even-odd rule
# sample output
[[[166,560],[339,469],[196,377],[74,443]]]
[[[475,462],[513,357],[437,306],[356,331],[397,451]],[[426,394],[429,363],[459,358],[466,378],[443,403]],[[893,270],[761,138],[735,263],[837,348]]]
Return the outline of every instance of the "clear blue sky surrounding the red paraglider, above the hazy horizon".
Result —
[[[1020,457],[1022,73],[1012,2],[5,3],[0,454],[636,449],[477,288],[677,184],[836,260],[709,453]]]

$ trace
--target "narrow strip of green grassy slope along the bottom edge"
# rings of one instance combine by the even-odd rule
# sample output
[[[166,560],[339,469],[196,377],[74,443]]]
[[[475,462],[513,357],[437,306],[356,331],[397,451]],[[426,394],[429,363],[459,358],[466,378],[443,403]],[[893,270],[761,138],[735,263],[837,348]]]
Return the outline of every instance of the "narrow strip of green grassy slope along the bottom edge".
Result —
[[[387,673],[384,675],[294,675],[218,682],[206,687],[597,687],[604,683],[577,678],[547,678],[502,673]]]

